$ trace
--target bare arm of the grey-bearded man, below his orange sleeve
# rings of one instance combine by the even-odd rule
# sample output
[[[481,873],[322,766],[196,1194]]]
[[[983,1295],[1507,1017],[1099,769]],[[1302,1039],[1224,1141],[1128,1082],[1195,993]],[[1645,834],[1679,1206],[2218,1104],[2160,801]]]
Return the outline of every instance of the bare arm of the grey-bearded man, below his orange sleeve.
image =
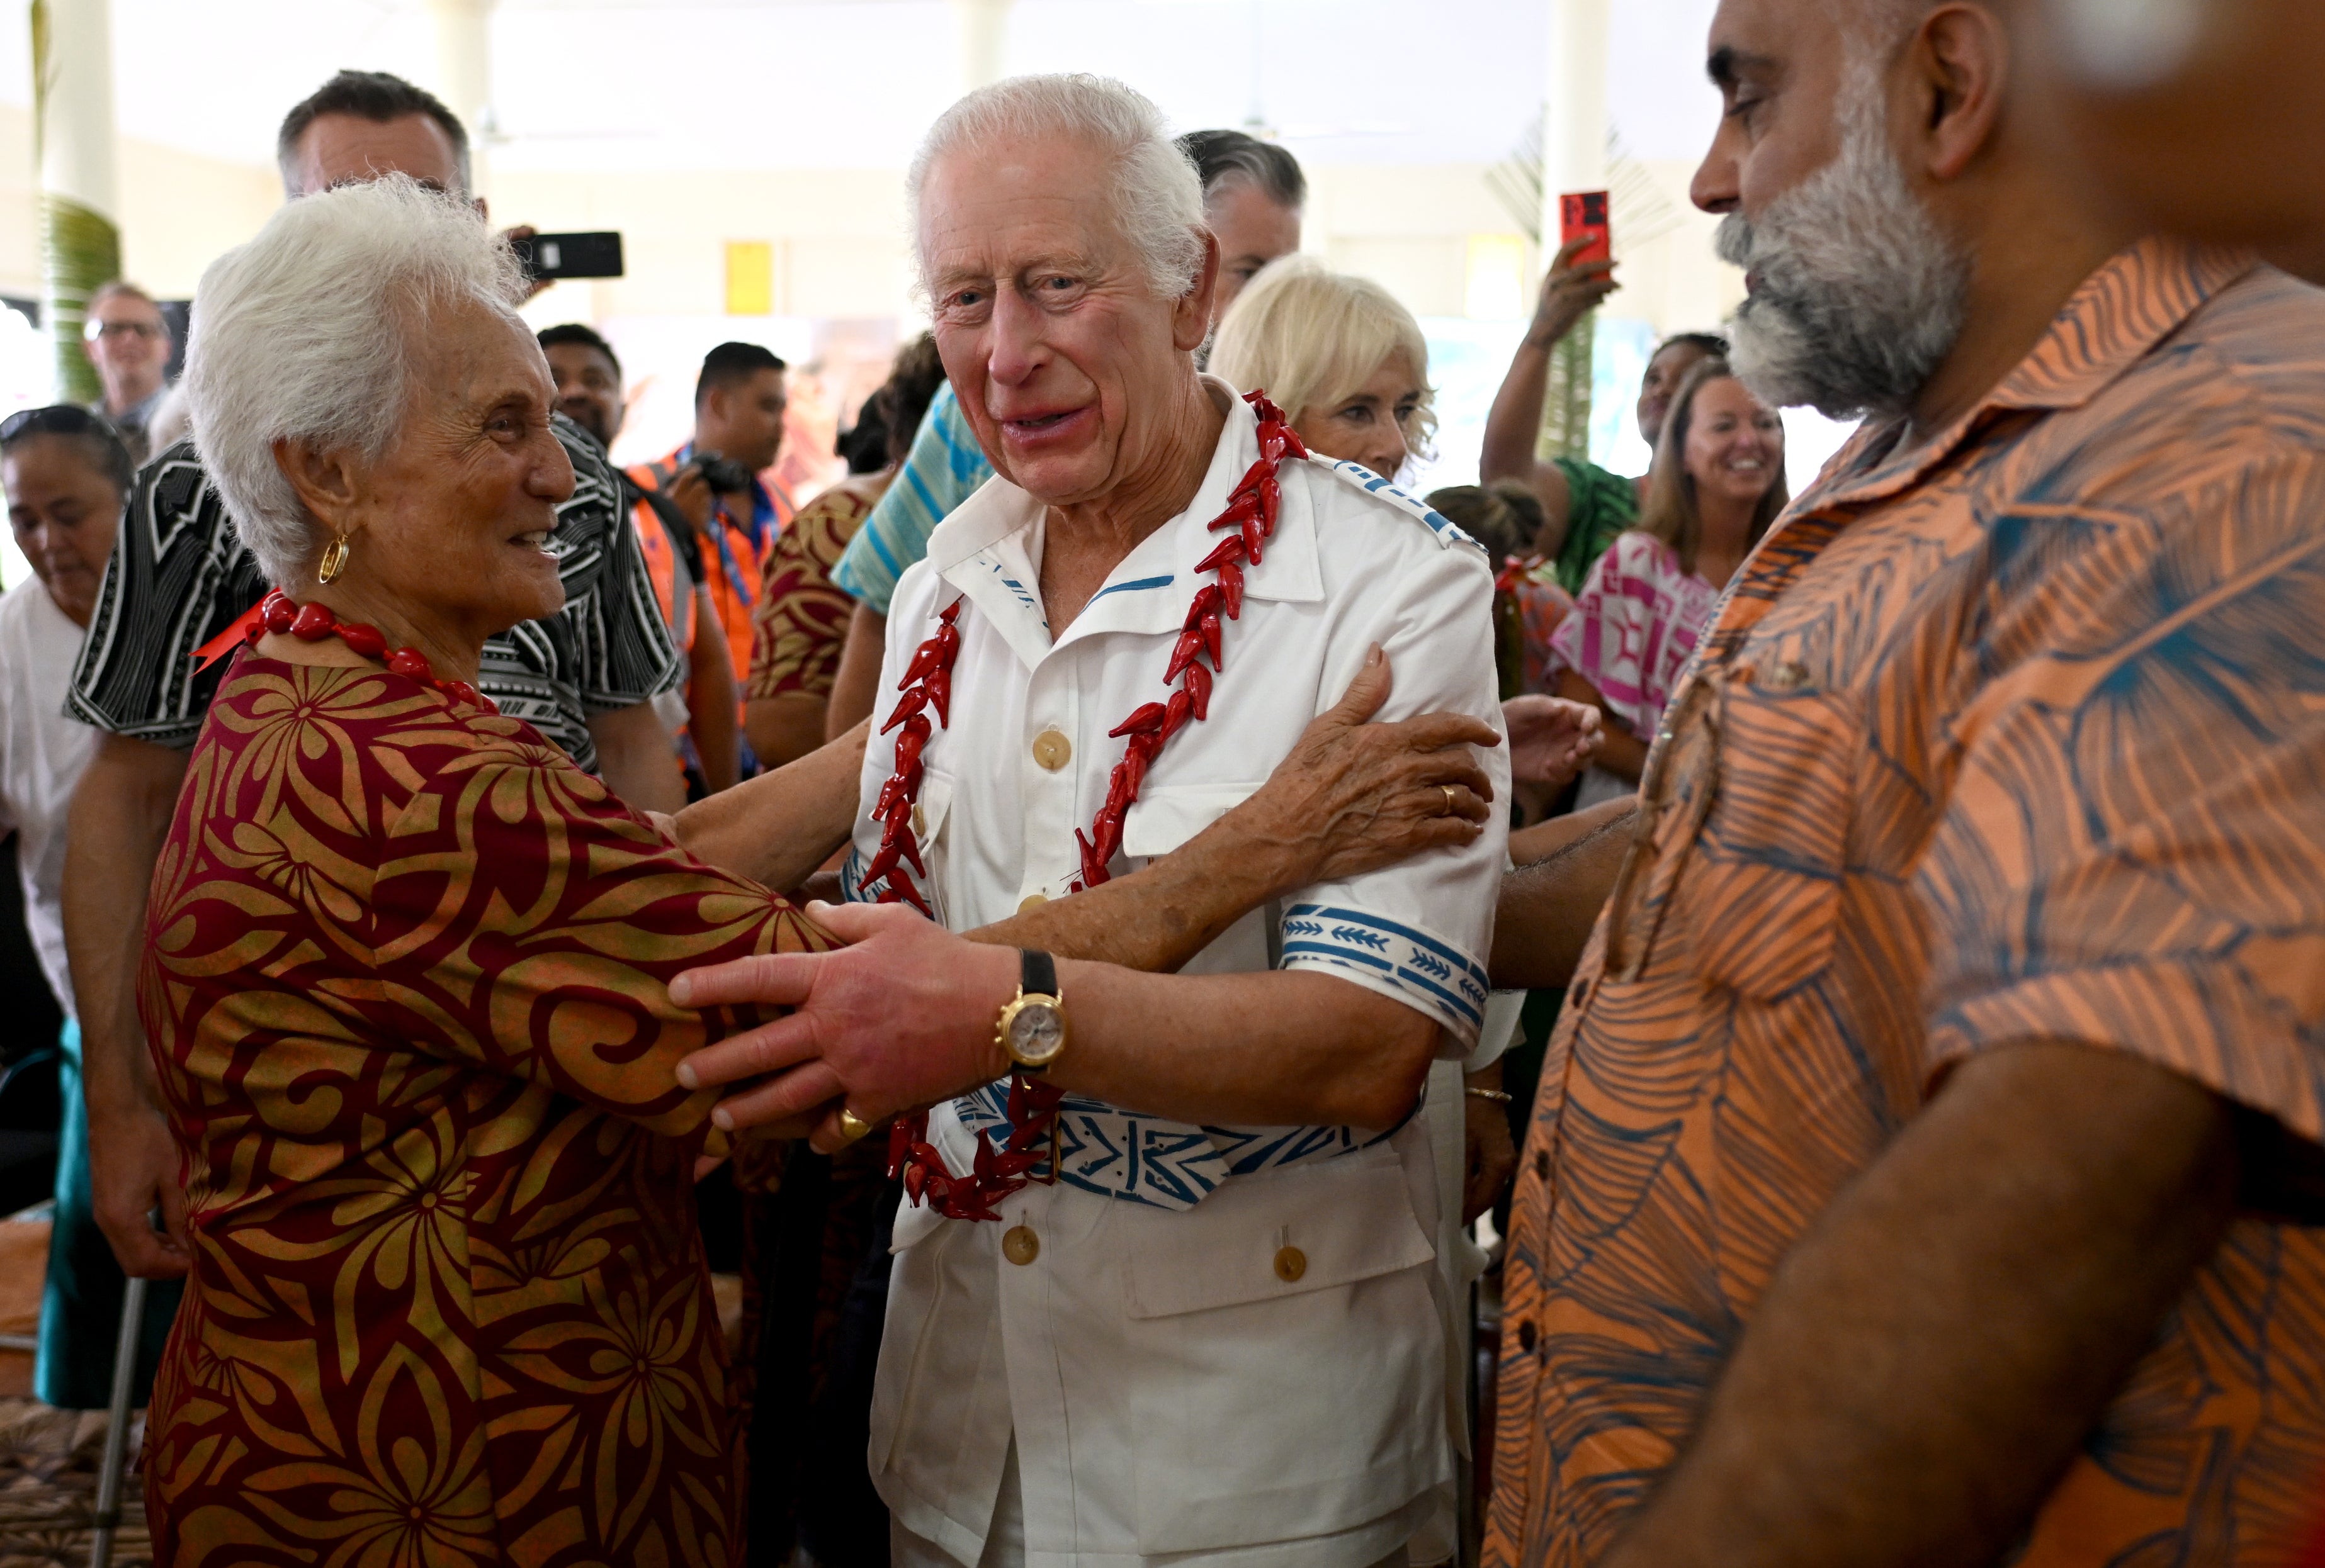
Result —
[[[2002,1561],[2234,1187],[2202,1085],[2081,1045],[1965,1062],[1783,1261],[1609,1568]]]

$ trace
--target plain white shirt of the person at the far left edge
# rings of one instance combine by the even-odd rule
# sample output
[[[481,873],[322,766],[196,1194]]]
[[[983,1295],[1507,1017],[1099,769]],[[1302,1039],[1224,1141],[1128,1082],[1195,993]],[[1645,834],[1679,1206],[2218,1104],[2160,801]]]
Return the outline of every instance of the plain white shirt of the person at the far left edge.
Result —
[[[65,718],[81,636],[40,578],[0,597],[0,836],[19,834],[26,927],[67,1017],[74,1010],[65,969],[65,811],[98,750],[98,732]]]

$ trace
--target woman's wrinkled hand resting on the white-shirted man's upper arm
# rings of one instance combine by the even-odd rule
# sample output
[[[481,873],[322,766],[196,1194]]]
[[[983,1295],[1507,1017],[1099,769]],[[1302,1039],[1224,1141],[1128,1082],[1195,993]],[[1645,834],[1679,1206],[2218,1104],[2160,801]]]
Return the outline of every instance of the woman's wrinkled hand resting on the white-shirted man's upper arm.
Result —
[[[1367,722],[1388,702],[1388,655],[1348,683],[1339,704],[1300,734],[1258,794],[1214,822],[1204,839],[1276,862],[1279,892],[1365,876],[1423,850],[1472,843],[1493,815],[1493,785],[1474,746],[1500,746],[1493,725],[1467,713]],[[1193,848],[1193,846],[1190,846]]]

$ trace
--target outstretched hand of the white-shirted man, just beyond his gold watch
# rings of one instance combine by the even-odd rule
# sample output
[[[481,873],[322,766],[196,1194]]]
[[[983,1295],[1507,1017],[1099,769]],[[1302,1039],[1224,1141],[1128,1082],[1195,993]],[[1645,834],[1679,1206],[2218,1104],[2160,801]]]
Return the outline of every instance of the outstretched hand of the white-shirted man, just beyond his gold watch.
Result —
[[[793,1008],[679,1064],[688,1089],[746,1085],[718,1101],[718,1127],[760,1127],[821,1108],[809,1141],[832,1152],[846,1143],[842,1103],[879,1124],[1009,1073],[993,1020],[1016,997],[1014,948],[965,941],[900,904],[809,904],[807,913],[853,945],[765,952],[688,969],[670,983],[681,1008]]]

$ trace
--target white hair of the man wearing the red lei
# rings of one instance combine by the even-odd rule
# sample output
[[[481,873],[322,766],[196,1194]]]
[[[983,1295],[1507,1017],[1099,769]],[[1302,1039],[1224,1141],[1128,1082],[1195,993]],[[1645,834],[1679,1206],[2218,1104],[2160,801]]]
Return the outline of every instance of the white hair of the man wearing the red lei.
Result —
[[[921,188],[928,172],[953,153],[1039,137],[1088,142],[1114,158],[1114,221],[1139,253],[1153,290],[1165,300],[1186,295],[1202,276],[1202,179],[1144,93],[1111,77],[1088,74],[995,81],[956,102],[928,128],[904,177],[923,286],[928,253],[921,244]]]

